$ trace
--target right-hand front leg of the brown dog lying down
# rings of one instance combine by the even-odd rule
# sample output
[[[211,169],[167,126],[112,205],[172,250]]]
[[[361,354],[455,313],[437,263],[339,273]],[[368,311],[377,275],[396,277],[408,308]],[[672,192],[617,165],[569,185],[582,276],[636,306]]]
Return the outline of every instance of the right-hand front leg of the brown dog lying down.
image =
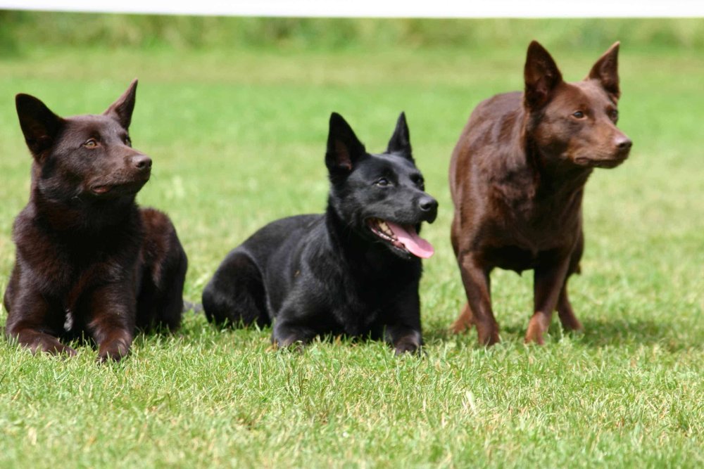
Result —
[[[130,352],[136,302],[133,289],[125,285],[106,285],[92,293],[87,328],[98,344],[99,361],[120,361]]]

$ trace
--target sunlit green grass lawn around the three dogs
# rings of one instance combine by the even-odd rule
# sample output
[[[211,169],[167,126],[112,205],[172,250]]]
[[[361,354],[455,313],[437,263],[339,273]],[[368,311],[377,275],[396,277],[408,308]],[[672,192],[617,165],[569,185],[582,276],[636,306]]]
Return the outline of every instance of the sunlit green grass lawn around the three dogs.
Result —
[[[608,45],[555,58],[579,79]],[[555,320],[545,347],[525,347],[532,278],[496,271],[503,342],[446,333],[464,301],[449,155],[474,105],[520,88],[523,47],[37,49],[0,60],[1,290],[29,189],[17,92],[61,115],[96,113],[139,76],[132,140],[154,160],[139,202],[175,221],[189,300],[258,226],[322,211],[332,110],[370,150],[405,110],[441,207],[424,229],[436,246],[421,285],[424,358],[347,340],[272,352],[270,330],[218,330],[192,313],[177,335],[139,336],[117,365],[96,366],[90,347],[60,360],[0,341],[0,467],[703,465],[700,54],[622,46],[621,127],[635,143],[587,186],[584,274],[570,289],[586,332],[563,335]]]

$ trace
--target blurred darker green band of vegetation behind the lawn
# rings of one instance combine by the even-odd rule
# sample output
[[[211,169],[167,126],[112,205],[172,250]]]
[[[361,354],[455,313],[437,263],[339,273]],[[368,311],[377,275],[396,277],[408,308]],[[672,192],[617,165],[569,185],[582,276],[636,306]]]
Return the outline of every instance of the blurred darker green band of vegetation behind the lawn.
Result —
[[[704,22],[689,19],[223,18],[0,11],[0,53],[35,46],[199,49],[504,48],[541,41],[593,48],[620,38],[632,49],[704,49]]]

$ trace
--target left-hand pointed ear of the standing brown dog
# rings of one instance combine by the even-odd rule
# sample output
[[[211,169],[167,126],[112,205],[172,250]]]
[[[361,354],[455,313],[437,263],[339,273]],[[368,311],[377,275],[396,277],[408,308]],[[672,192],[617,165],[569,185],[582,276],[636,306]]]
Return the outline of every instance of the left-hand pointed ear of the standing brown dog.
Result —
[[[546,105],[552,97],[553,90],[562,82],[558,65],[538,41],[532,41],[528,46],[523,77],[524,102],[529,109],[538,109]]]

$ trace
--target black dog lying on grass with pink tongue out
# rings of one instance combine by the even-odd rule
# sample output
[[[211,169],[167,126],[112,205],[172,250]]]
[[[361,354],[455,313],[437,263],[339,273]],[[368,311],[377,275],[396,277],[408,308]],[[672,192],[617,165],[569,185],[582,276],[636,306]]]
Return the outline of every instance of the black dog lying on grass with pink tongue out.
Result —
[[[220,264],[203,291],[210,321],[263,326],[286,347],[319,334],[385,338],[396,353],[422,344],[417,235],[437,202],[425,193],[401,113],[389,147],[365,151],[338,114],[330,116],[325,214],[274,221]]]

